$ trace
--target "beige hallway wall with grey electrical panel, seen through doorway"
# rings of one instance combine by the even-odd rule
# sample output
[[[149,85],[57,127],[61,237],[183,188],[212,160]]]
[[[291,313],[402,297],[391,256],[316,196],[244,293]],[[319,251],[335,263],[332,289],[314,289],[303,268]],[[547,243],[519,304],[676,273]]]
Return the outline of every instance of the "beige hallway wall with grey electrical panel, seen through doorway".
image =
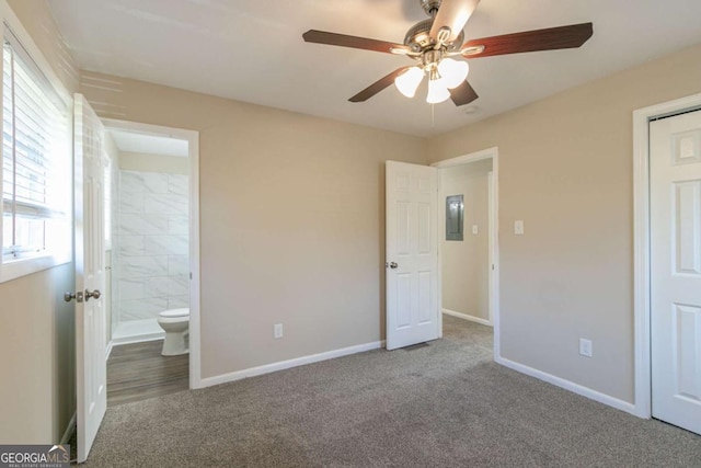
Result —
[[[440,169],[443,308],[489,320],[489,181],[492,160]],[[445,203],[464,197],[463,240],[446,240]],[[472,233],[472,226],[478,233]]]

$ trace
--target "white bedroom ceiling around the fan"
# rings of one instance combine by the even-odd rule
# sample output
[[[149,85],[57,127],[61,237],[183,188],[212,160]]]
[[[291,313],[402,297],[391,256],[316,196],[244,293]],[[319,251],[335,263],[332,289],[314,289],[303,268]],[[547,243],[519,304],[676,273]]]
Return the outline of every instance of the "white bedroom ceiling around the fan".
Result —
[[[310,28],[401,43],[418,0],[48,0],[80,68],[238,101],[436,135],[701,43],[699,0],[482,0],[466,39],[593,22],[579,49],[470,60],[480,99],[434,109],[390,87],[348,98],[406,57],[307,44]],[[700,57],[701,59],[701,57]]]

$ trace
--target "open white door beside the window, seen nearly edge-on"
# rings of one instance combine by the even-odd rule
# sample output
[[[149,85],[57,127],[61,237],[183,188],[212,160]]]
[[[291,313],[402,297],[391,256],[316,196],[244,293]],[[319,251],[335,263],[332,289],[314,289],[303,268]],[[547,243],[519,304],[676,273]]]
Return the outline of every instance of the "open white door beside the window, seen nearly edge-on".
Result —
[[[107,408],[105,361],[102,123],[88,101],[74,99],[76,356],[78,461],[85,461]]]

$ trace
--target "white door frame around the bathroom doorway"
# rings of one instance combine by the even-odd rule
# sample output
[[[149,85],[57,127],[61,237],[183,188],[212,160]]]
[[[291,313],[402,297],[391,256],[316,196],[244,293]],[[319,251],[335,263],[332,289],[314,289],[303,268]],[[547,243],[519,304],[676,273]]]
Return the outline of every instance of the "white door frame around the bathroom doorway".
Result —
[[[203,388],[199,300],[199,132],[102,118],[105,128],[187,140],[189,162],[189,388]]]

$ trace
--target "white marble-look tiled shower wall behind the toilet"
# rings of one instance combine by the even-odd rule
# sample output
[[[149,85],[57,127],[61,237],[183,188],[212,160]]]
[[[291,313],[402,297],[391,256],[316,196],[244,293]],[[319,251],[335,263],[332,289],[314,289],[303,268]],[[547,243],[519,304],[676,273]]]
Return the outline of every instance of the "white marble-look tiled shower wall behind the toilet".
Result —
[[[115,249],[118,321],[188,307],[187,175],[119,171]]]

